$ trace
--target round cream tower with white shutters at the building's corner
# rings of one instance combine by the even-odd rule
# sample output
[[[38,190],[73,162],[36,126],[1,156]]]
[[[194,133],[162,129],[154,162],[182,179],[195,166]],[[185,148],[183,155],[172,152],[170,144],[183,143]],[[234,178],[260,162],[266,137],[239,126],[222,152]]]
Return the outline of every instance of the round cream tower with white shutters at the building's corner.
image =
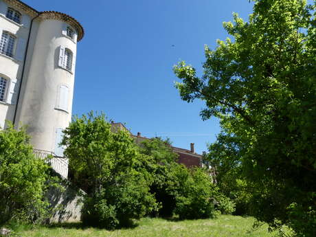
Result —
[[[32,23],[19,99],[19,126],[26,125],[31,143],[63,157],[58,144],[71,122],[77,43],[83,28],[71,16],[40,12]]]

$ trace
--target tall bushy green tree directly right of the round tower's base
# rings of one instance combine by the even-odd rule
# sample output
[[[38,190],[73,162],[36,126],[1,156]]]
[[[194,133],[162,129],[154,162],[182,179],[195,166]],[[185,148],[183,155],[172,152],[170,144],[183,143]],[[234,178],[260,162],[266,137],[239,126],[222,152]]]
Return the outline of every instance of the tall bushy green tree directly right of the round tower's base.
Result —
[[[84,224],[113,229],[155,210],[151,175],[139,166],[146,157],[127,131],[113,133],[103,114],[91,112],[74,117],[62,144],[75,179],[86,181]]]

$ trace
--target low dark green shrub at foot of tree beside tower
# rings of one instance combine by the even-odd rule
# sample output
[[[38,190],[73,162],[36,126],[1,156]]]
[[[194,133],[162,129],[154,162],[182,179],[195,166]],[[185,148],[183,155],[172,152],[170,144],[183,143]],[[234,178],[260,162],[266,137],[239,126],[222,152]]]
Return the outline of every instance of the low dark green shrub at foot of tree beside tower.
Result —
[[[155,197],[142,173],[121,173],[115,185],[104,186],[100,194],[84,201],[82,223],[106,229],[128,227],[132,219],[156,209]]]

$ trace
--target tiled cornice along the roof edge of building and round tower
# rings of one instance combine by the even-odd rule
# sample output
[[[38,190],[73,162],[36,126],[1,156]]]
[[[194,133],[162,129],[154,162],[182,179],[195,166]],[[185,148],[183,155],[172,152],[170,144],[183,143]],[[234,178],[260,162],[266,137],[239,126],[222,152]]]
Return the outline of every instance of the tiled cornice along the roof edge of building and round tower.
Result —
[[[17,10],[21,10],[25,12],[26,14],[32,16],[33,18],[38,16],[39,19],[46,20],[46,19],[55,19],[58,21],[65,21],[66,23],[69,23],[72,27],[76,29],[78,32],[78,38],[77,41],[80,41],[84,36],[84,29],[82,25],[76,19],[73,17],[61,13],[61,12],[55,12],[55,11],[45,11],[45,12],[38,12],[34,8],[31,8],[29,5],[23,3],[20,0],[3,0],[9,5],[12,5]]]

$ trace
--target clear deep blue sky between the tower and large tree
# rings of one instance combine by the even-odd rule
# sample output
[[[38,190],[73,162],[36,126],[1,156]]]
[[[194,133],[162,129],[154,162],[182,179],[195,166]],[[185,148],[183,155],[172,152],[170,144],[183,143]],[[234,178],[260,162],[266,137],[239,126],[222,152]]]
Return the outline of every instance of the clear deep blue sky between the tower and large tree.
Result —
[[[201,72],[204,45],[225,39],[223,21],[237,12],[247,20],[248,0],[23,0],[38,11],[77,19],[78,43],[73,114],[104,111],[136,134],[170,137],[174,146],[207,150],[220,131],[202,121],[202,102],[183,102],[172,66],[185,60]],[[172,47],[174,45],[174,47]]]

